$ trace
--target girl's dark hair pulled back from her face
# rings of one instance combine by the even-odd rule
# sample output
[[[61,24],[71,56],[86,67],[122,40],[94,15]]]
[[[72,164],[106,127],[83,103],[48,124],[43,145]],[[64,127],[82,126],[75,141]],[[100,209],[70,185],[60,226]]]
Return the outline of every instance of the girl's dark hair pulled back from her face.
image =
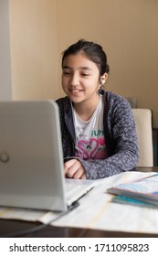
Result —
[[[62,67],[64,59],[68,57],[68,55],[77,54],[79,51],[82,51],[88,59],[97,64],[100,70],[100,76],[104,73],[109,73],[110,67],[107,63],[107,56],[102,47],[99,44],[86,41],[84,39],[80,39],[77,43],[71,45],[63,52],[61,62]]]

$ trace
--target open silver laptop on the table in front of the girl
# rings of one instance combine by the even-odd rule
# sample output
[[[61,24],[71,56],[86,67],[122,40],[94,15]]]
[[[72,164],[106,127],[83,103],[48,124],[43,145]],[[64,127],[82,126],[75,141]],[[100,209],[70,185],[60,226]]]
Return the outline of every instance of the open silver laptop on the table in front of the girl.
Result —
[[[64,176],[55,101],[0,102],[0,206],[65,211],[94,185]]]

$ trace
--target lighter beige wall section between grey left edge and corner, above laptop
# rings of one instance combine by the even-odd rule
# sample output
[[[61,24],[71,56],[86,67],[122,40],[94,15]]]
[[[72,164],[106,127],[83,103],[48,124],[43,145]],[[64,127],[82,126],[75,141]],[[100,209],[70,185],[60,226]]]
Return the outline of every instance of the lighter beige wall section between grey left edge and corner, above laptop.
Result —
[[[56,0],[9,0],[14,100],[59,96]]]

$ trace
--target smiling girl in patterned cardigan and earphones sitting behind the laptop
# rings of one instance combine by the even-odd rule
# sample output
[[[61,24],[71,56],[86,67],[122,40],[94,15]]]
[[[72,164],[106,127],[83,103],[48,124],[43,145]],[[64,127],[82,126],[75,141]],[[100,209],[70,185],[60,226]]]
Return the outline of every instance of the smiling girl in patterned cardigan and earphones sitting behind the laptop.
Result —
[[[79,40],[63,53],[58,99],[65,176],[97,179],[132,170],[138,142],[128,101],[100,87],[108,78],[100,45]]]

